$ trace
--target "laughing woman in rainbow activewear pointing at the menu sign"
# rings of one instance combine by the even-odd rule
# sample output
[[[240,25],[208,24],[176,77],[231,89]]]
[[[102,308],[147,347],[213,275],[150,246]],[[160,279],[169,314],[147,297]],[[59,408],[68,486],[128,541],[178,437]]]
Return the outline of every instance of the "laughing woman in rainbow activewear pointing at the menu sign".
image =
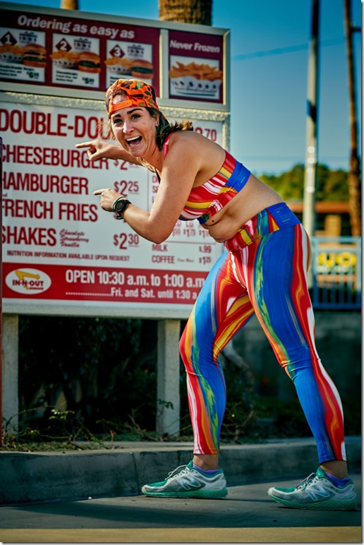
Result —
[[[348,478],[339,394],[324,371],[314,341],[306,272],[310,245],[302,224],[281,197],[226,150],[193,132],[189,122],[170,125],[150,85],[116,80],[105,97],[114,138],[80,143],[90,160],[117,158],[156,172],[159,190],[149,212],[111,188],[95,191],[100,205],[118,212],[140,236],[165,241],[178,220],[198,219],[226,251],[214,264],[180,342],[193,424],[193,460],[148,496],[221,498],[219,433],[225,383],[219,354],[257,316],[279,364],[291,377],[317,443],[320,467],[295,489],[269,489],[271,498],[296,508],[355,508]],[[315,494],[315,490],[324,493]]]

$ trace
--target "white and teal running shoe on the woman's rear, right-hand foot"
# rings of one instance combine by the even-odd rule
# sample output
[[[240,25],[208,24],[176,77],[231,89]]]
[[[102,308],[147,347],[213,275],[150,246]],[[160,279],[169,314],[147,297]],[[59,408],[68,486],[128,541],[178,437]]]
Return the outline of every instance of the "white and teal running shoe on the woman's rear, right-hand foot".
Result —
[[[268,490],[272,500],[294,509],[348,511],[356,508],[356,491],[350,479],[344,486],[336,486],[319,467],[316,474],[291,488],[272,487]]]

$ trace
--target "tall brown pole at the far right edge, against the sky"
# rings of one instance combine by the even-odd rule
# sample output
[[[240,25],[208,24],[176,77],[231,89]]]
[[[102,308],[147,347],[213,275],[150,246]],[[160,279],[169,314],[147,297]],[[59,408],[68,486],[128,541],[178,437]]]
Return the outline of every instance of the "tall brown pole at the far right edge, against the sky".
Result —
[[[348,88],[350,100],[350,125],[351,125],[351,155],[350,171],[348,173],[349,210],[351,221],[351,233],[353,236],[361,234],[361,210],[360,210],[360,160],[358,157],[358,131],[356,123],[356,92],[353,63],[353,32],[360,32],[351,24],[351,0],[344,0],[346,49],[348,54]]]

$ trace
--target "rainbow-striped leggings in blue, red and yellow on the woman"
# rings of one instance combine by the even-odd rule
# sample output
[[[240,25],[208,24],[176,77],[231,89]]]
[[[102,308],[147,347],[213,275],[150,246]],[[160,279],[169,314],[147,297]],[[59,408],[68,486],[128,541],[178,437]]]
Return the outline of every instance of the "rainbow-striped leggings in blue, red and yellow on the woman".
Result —
[[[253,316],[291,377],[320,463],[346,460],[339,393],[315,348],[307,287],[310,242],[284,203],[259,212],[225,243],[180,342],[195,454],[217,454],[226,404],[219,354]]]

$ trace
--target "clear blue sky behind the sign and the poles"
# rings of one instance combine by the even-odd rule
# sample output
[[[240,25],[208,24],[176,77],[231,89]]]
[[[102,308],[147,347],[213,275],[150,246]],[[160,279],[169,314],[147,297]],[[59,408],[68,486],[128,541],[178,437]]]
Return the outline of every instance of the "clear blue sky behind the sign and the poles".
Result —
[[[158,19],[157,0],[78,0],[80,11]],[[61,0],[19,4],[59,8]],[[212,25],[231,30],[230,150],[255,174],[305,162],[311,0],[213,0]],[[361,25],[360,0],[351,0]],[[353,35],[361,150],[361,32]],[[344,0],[320,0],[318,160],[348,169],[350,116]]]

